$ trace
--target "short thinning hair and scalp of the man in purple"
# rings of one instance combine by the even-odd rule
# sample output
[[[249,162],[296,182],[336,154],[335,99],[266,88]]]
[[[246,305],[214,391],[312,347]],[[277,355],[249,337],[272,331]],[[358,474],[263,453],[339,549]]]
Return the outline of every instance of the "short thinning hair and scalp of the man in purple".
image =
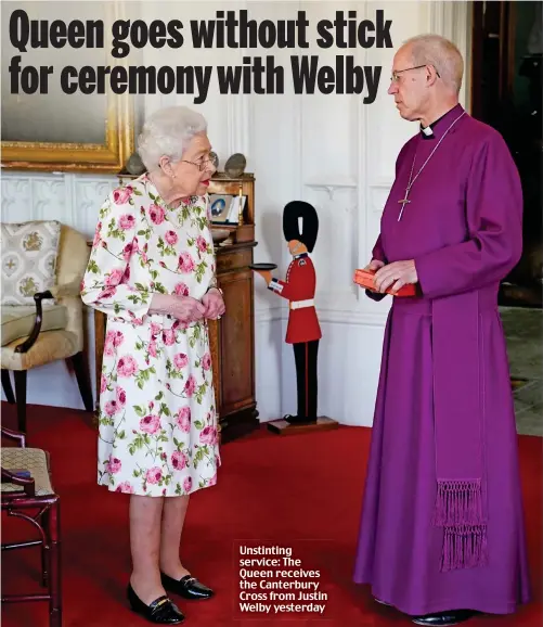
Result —
[[[432,65],[449,89],[460,92],[464,60],[456,46],[440,35],[418,35],[403,42],[409,46],[413,65]]]

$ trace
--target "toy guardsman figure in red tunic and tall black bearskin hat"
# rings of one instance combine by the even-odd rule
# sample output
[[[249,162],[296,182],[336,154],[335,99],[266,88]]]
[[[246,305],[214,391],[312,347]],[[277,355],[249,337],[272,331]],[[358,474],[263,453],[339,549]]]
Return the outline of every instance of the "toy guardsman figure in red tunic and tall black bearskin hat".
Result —
[[[313,251],[318,231],[319,218],[313,206],[300,201],[288,203],[283,210],[283,233],[293,260],[285,281],[273,279],[269,270],[257,270],[269,290],[289,302],[285,342],[294,346],[298,387],[297,414],[284,417],[289,424],[316,423],[316,356],[322,333],[314,306],[316,277],[309,253]]]

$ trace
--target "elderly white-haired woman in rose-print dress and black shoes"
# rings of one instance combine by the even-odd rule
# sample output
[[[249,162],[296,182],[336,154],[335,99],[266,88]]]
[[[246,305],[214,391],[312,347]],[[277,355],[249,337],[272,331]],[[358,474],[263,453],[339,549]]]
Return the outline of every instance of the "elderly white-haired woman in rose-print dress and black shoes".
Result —
[[[100,209],[83,302],[107,314],[98,482],[130,494],[131,607],[184,618],[166,591],[212,591],[182,565],[189,496],[217,481],[220,456],[207,320],[224,312],[207,189],[215,167],[202,115],[182,106],[145,124],[146,174]]]

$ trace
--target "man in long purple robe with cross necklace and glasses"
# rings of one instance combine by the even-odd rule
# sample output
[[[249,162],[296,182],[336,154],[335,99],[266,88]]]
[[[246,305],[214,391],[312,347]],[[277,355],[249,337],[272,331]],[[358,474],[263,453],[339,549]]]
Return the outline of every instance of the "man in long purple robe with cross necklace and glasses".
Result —
[[[387,321],[354,580],[418,625],[508,614],[530,597],[500,281],[522,247],[504,140],[458,103],[463,60],[436,36],[396,54],[400,151],[370,268]]]

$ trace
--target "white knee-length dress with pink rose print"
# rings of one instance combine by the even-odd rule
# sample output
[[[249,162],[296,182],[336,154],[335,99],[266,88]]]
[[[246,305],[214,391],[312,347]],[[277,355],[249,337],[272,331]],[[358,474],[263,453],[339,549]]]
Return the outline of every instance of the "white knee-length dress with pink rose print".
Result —
[[[81,297],[108,315],[98,482],[114,491],[182,496],[217,481],[207,323],[147,312],[153,292],[199,300],[215,284],[206,201],[168,208],[143,175],[100,209]]]

